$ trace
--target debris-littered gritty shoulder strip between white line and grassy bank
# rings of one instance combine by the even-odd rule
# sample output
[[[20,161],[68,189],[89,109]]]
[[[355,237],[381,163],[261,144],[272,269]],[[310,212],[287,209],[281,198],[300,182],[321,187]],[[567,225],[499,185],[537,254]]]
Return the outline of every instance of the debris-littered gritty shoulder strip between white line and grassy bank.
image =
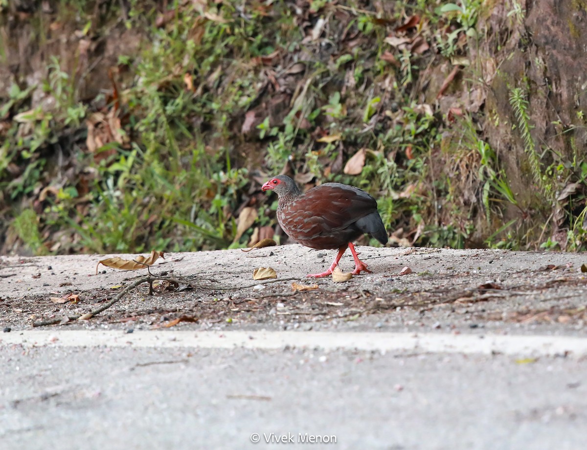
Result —
[[[147,283],[90,320],[56,326],[87,329],[329,329],[454,330],[585,335],[587,319],[581,253],[360,247],[373,273],[344,283],[307,279],[325,270],[335,252],[300,245],[169,253],[150,269],[180,279],[178,286]],[[89,312],[146,270],[99,266],[100,259],[135,255],[0,257],[0,326]],[[345,255],[343,270],[353,262]],[[271,267],[276,280],[252,279]],[[404,267],[411,273],[399,275]],[[299,292],[292,283],[318,285]],[[193,286],[189,286],[190,283]],[[77,294],[77,302],[52,297]],[[73,297],[75,299],[76,297]]]

